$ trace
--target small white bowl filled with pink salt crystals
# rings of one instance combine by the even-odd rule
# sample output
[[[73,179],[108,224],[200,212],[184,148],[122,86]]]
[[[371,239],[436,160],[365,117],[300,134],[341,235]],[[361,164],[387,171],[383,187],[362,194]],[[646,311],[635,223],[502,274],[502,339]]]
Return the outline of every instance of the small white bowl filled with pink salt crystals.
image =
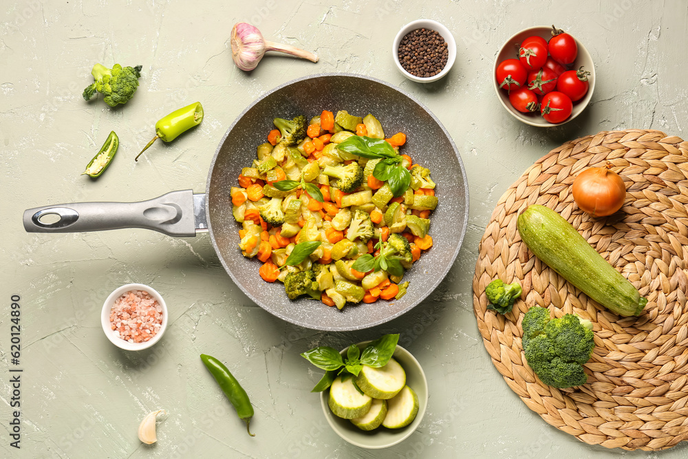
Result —
[[[100,323],[118,348],[138,351],[160,341],[167,328],[167,306],[160,293],[144,284],[127,284],[103,304]]]

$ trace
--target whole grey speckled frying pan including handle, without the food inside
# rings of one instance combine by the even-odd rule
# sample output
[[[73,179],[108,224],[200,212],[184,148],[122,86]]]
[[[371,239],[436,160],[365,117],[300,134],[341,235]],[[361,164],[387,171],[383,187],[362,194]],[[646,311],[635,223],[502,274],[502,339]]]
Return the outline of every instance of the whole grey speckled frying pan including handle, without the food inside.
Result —
[[[260,279],[257,259],[246,259],[237,248],[240,225],[232,215],[230,188],[237,186],[242,167],[255,158],[257,145],[272,129],[272,118],[306,118],[322,109],[374,114],[386,133],[404,132],[404,153],[432,171],[438,184],[438,208],[431,217],[433,247],[407,271],[405,297],[396,301],[347,304],[343,310],[319,301],[290,301],[281,283]],[[389,135],[391,135],[389,134]],[[23,224],[30,233],[75,233],[118,228],[148,228],[176,237],[210,233],[227,273],[264,310],[295,325],[344,331],[385,323],[425,299],[449,272],[466,232],[469,190],[456,147],[440,121],[412,96],[369,76],[320,74],[272,89],[252,103],[230,126],[215,152],[205,193],[172,191],[143,202],[81,202],[28,209]],[[48,215],[52,217],[47,217]],[[52,218],[51,221],[48,219]]]

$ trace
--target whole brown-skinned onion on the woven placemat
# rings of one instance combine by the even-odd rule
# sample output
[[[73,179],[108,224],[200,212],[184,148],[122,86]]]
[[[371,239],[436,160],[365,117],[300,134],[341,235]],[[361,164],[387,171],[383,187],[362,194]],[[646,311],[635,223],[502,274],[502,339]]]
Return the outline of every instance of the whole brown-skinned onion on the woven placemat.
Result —
[[[612,163],[591,167],[578,174],[573,181],[573,199],[583,212],[593,217],[606,217],[621,209],[626,198],[626,186],[619,174],[612,171]]]

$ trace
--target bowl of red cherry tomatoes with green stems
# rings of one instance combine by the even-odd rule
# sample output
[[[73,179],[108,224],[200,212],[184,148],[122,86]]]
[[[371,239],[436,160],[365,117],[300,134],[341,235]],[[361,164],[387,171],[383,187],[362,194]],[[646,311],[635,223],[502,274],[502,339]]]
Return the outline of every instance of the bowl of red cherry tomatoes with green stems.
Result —
[[[493,81],[504,108],[531,126],[576,118],[590,102],[595,67],[585,46],[554,26],[512,36],[495,58]]]

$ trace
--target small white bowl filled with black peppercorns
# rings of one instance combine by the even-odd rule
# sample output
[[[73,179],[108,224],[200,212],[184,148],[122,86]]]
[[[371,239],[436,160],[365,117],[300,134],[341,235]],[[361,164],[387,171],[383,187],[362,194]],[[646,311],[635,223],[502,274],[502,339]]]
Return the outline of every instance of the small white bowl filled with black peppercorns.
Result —
[[[456,42],[444,25],[431,19],[418,19],[396,34],[392,56],[406,78],[431,83],[449,73],[456,58]]]

